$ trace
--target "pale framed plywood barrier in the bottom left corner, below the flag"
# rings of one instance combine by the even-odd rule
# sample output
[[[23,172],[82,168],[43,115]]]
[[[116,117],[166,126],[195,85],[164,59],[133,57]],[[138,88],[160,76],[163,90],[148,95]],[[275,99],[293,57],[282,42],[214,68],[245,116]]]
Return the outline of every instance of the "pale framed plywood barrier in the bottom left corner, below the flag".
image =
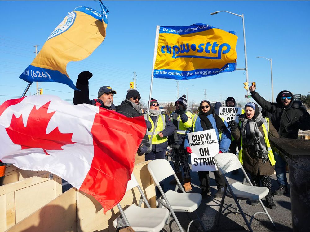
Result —
[[[11,168],[9,173],[14,176],[18,170],[15,172]],[[14,226],[61,193],[61,178],[50,173],[0,186],[0,232]]]

